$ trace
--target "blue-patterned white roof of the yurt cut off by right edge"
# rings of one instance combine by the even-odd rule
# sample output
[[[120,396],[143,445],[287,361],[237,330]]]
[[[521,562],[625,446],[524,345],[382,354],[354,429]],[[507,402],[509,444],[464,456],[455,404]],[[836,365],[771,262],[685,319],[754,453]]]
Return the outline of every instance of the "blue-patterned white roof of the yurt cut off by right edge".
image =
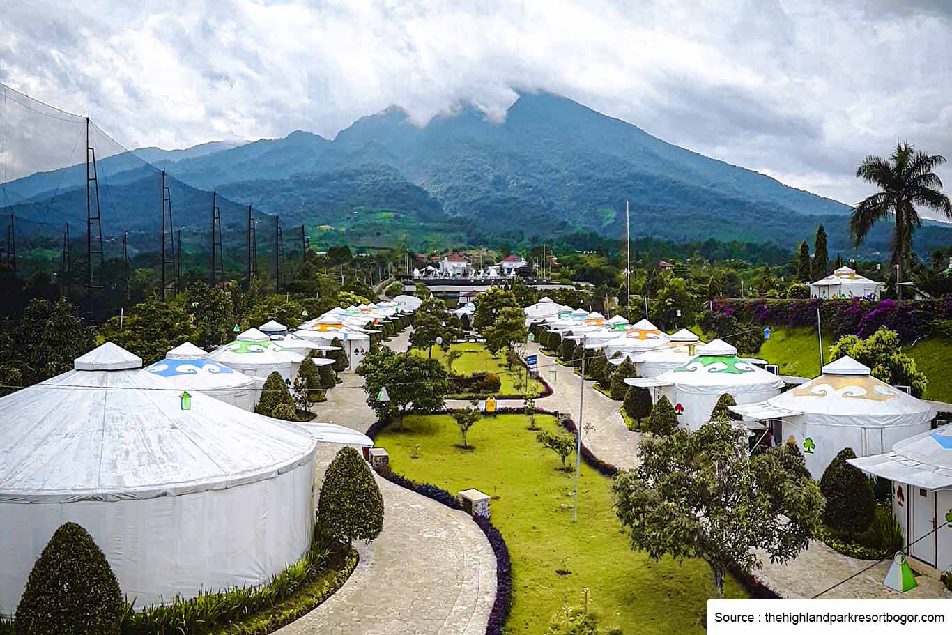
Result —
[[[892,451],[847,463],[876,476],[925,489],[952,487],[952,426],[897,442]]]

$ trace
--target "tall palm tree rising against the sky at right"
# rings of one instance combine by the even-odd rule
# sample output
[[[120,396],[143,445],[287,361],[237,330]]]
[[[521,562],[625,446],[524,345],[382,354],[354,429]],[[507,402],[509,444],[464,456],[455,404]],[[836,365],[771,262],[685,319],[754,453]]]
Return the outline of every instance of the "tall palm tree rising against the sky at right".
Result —
[[[922,218],[916,206],[934,209],[952,220],[952,204],[942,193],[942,181],[935,170],[945,163],[939,154],[917,152],[910,144],[897,144],[888,159],[867,156],[856,169],[856,177],[880,191],[853,208],[849,229],[859,246],[874,225],[890,214],[896,219],[893,230],[892,264],[897,267],[897,282],[902,276],[902,260],[912,253],[912,234]]]

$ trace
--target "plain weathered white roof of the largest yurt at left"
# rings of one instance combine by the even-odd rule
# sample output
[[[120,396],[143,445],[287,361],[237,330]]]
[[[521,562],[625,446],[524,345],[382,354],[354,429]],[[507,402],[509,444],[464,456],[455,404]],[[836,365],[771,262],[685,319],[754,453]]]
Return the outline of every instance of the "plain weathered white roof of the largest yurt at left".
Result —
[[[116,350],[118,349],[118,351]],[[105,344],[84,355],[130,364]],[[195,392],[141,367],[75,370],[0,398],[0,502],[144,499],[240,486],[309,460],[302,428]],[[141,365],[140,365],[141,366]]]

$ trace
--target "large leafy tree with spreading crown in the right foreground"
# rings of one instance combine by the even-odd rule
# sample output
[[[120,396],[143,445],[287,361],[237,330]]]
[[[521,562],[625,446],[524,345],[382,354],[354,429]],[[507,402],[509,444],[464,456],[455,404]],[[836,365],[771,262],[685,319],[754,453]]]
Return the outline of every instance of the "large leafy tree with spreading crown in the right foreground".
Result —
[[[613,486],[631,546],[654,560],[704,559],[718,597],[730,566],[761,566],[754,549],[783,564],[820,524],[823,495],[803,457],[778,446],[750,458],[744,431],[730,424],[648,437],[638,454],[641,465]]]

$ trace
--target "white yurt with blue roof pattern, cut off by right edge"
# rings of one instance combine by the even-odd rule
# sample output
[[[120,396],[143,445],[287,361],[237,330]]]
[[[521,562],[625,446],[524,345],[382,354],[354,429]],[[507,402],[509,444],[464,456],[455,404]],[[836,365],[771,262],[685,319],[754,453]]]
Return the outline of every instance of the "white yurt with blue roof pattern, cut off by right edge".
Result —
[[[892,481],[904,551],[940,571],[952,567],[952,426],[925,430],[892,451],[848,463]]]

